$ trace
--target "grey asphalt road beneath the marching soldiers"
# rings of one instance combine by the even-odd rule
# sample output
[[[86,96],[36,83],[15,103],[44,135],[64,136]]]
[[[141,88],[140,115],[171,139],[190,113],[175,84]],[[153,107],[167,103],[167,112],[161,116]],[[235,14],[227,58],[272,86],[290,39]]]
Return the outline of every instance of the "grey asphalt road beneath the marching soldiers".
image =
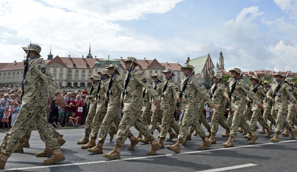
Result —
[[[259,124],[258,126],[260,127]],[[49,157],[35,157],[45,146],[38,132],[32,131],[30,147],[24,148],[22,153],[12,154],[3,171],[296,171],[297,140],[290,140],[289,137],[280,136],[280,142],[273,143],[264,137],[265,134],[256,132],[259,139],[255,144],[249,145],[248,140],[238,133],[234,141],[236,147],[225,148],[222,143],[228,138],[220,136],[224,129],[219,127],[216,135],[217,144],[206,150],[198,150],[202,140],[198,136],[192,136],[192,140],[182,146],[180,154],[166,148],[167,144],[173,145],[177,141],[175,138],[172,142],[165,141],[165,148],[157,151],[155,155],[146,155],[151,149],[150,144],[139,142],[133,150],[127,150],[130,145],[128,139],[121,150],[121,159],[107,160],[102,154],[92,154],[76,144],[84,137],[84,128],[58,131],[64,134],[63,138],[67,141],[61,147],[66,160],[48,166],[43,165],[42,161]],[[131,131],[135,136],[138,134],[134,127]],[[0,138],[5,134],[4,131],[0,132]],[[155,131],[154,136],[158,136],[158,131]],[[109,142],[107,136],[103,152],[110,152],[114,146],[115,138]]]

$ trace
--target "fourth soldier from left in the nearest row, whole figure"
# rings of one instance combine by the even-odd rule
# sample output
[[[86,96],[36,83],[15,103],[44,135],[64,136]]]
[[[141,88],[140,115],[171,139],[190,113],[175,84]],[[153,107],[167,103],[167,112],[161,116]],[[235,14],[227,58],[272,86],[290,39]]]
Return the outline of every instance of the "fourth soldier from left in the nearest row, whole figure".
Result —
[[[240,69],[238,68],[233,68],[229,72],[231,73],[232,78],[234,78],[233,82],[235,82],[238,79],[241,73]],[[244,130],[246,130],[247,133],[251,135],[251,141],[249,142],[249,144],[254,144],[255,141],[258,139],[258,136],[251,130],[249,125],[246,123],[245,117],[243,116],[243,111],[245,108],[244,105],[246,100],[245,93],[254,100],[255,104],[258,104],[258,107],[262,109],[264,109],[264,107],[257,100],[255,93],[253,93],[250,90],[249,85],[243,79],[240,78],[237,81],[236,87],[234,89],[233,93],[234,95],[236,95],[236,98],[234,97],[229,98],[229,94],[230,94],[230,90],[232,89],[232,86],[233,86],[233,83],[230,82],[226,91],[224,92],[226,99],[228,101],[231,101],[232,103],[231,105],[232,105],[232,110],[234,111],[234,114],[233,114],[231,129],[230,129],[230,137],[226,143],[223,143],[223,146],[234,147],[233,140],[237,136],[239,124],[241,125],[241,127],[243,127]]]

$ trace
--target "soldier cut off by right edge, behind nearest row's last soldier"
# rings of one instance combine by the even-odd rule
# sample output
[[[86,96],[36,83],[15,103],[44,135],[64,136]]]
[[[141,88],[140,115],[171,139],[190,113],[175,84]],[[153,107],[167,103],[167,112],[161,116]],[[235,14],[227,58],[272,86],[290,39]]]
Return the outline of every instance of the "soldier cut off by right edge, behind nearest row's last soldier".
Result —
[[[292,80],[286,78],[286,80],[284,81],[284,83],[287,83],[287,89],[289,89],[289,91],[291,90],[293,96],[296,98],[297,92],[296,92],[296,88],[292,91],[292,88],[294,87],[294,83],[292,82]],[[294,124],[297,125],[297,120],[296,120],[296,111],[295,111],[295,104],[294,102],[289,99],[288,102],[288,116],[287,116],[287,120],[289,122],[289,124],[292,125],[292,128],[294,129]],[[281,133],[284,136],[289,136],[289,131],[286,129],[283,133]]]

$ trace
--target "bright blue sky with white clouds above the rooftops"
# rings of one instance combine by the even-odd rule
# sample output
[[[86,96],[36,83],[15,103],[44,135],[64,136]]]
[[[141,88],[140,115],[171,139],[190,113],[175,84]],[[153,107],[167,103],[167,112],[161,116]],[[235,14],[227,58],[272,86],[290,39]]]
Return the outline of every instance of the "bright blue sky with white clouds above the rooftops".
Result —
[[[184,64],[222,50],[225,68],[297,72],[297,0],[1,0],[0,63],[30,41],[60,57]]]

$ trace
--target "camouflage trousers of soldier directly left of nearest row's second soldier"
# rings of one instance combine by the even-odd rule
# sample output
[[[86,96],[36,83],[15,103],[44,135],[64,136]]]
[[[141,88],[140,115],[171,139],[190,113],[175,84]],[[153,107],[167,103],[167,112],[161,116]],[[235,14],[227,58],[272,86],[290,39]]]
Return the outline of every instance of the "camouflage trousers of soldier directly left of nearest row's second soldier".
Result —
[[[121,118],[120,111],[120,106],[117,108],[107,108],[106,115],[104,116],[100,127],[99,142],[104,143],[109,129],[112,129],[113,122],[118,120],[119,117]],[[115,125],[113,128],[115,128]]]

